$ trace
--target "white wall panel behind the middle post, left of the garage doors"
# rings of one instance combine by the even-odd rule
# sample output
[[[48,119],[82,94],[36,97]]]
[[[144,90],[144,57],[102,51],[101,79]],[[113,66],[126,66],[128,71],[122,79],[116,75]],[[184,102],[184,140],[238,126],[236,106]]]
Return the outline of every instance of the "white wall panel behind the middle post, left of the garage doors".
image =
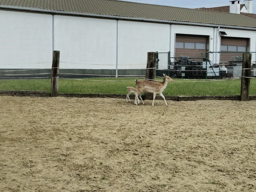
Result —
[[[118,69],[146,68],[148,52],[168,52],[170,25],[118,21]]]

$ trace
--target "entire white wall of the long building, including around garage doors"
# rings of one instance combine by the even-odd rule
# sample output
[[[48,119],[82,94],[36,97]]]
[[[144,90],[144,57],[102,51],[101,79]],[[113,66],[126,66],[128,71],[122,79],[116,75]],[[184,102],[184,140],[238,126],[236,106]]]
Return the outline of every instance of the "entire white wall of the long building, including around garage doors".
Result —
[[[0,10],[0,25],[0,68],[51,67],[52,15]],[[255,31],[220,30],[250,38],[249,51],[256,52]],[[60,68],[116,69],[116,32],[116,20],[55,15],[54,49],[67,62]],[[209,51],[220,51],[216,28],[118,21],[118,69],[145,68],[147,52],[174,54],[176,33],[210,36]]]

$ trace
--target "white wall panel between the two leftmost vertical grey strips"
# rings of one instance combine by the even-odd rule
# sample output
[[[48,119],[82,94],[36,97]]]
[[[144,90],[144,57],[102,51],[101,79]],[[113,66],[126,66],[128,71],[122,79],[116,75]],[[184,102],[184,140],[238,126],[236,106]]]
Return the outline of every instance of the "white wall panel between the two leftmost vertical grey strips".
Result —
[[[116,20],[54,16],[60,68],[116,69]]]

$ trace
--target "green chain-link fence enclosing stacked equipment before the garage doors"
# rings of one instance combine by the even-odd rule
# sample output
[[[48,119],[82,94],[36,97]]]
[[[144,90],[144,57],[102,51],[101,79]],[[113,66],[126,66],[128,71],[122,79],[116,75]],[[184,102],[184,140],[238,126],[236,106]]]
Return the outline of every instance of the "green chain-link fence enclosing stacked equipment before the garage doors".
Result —
[[[242,54],[245,52],[182,52],[158,53],[156,76],[172,78],[223,79],[242,75]],[[256,77],[256,53],[252,54],[251,76]]]

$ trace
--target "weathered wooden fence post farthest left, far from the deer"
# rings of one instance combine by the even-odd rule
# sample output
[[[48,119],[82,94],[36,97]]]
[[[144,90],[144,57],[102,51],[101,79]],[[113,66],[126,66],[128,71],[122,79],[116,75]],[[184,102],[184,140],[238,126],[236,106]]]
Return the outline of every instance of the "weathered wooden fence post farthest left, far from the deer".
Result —
[[[51,97],[57,97],[59,94],[59,56],[59,51],[53,51]]]

